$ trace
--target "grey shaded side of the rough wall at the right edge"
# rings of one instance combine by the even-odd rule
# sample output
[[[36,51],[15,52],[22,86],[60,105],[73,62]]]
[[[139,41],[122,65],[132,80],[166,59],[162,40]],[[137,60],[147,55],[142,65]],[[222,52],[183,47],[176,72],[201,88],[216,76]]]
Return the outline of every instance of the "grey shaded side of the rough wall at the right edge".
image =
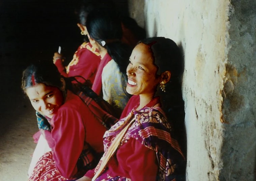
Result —
[[[231,0],[220,180],[256,180],[256,1]]]

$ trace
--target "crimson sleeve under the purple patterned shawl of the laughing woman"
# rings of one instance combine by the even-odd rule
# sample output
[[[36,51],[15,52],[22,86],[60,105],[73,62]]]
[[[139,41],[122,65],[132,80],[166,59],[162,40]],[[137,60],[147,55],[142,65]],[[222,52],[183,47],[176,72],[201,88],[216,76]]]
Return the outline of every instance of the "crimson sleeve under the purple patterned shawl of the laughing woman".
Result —
[[[147,148],[135,139],[130,139],[117,151],[119,169],[128,172],[133,181],[155,181],[158,164],[154,150]]]

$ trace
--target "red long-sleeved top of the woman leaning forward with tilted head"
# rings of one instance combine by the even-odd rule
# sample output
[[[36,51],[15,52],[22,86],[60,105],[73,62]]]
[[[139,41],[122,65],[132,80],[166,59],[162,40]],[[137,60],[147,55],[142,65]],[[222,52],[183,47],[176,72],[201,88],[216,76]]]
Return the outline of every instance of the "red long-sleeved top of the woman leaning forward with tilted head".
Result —
[[[65,178],[76,174],[77,160],[84,141],[96,152],[103,152],[103,135],[106,128],[95,119],[89,108],[75,94],[68,91],[65,103],[51,120],[54,141],[55,166]]]

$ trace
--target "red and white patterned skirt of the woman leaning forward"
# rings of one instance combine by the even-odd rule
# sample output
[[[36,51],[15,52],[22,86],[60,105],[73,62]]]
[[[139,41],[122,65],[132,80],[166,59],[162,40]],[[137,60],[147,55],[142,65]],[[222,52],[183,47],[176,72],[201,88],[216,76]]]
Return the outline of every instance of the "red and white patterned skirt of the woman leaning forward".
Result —
[[[68,180],[62,177],[55,167],[52,152],[47,152],[38,160],[29,181],[57,181]]]

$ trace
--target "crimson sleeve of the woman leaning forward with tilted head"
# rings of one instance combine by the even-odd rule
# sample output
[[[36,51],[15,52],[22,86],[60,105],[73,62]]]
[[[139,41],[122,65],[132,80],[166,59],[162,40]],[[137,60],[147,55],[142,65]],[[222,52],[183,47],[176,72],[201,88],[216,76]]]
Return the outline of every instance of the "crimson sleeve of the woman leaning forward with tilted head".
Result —
[[[55,166],[63,177],[70,178],[77,172],[76,164],[84,146],[83,120],[77,110],[68,108],[58,110],[52,121]]]

